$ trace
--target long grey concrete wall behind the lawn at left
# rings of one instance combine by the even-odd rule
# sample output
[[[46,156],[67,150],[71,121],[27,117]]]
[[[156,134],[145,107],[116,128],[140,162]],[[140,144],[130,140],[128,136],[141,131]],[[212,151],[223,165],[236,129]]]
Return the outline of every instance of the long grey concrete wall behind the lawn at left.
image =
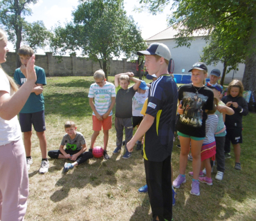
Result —
[[[16,69],[16,53],[8,52],[6,63],[2,64],[3,70],[9,75],[13,75]],[[59,61],[53,56],[52,52],[46,52],[46,55],[36,55],[35,65],[44,68],[46,76],[91,76],[95,70],[100,69],[98,62],[87,60],[84,57],[62,57]],[[127,71],[136,74],[136,64],[127,61],[127,59],[112,60],[107,64],[110,75],[126,73]]]

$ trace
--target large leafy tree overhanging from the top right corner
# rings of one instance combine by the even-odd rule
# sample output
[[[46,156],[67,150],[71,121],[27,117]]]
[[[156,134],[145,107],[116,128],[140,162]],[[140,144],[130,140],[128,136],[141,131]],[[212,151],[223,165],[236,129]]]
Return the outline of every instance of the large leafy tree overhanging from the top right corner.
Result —
[[[141,0],[152,13],[164,7],[169,0]],[[190,46],[194,32],[203,32],[206,41],[218,36],[215,45],[225,48],[219,56],[235,56],[240,63],[245,60],[243,84],[255,90],[256,84],[256,1],[255,0],[175,0],[172,3],[170,25],[179,30],[177,46]],[[228,53],[225,55],[225,52]]]

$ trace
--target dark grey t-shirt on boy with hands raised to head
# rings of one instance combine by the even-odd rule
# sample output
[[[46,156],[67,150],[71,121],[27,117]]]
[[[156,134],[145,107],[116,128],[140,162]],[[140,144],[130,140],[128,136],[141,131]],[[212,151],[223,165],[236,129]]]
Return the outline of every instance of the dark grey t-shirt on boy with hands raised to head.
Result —
[[[134,97],[135,93],[134,86],[129,87],[127,90],[122,89],[120,86],[116,88],[116,117],[132,117],[132,97]]]

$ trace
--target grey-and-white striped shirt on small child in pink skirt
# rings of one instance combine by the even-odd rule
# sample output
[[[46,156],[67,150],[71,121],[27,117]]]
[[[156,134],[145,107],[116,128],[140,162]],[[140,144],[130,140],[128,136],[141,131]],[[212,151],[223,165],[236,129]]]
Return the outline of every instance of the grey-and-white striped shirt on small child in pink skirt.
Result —
[[[215,142],[214,133],[217,130],[217,125],[219,122],[219,118],[217,115],[208,115],[208,118],[205,122],[205,139],[203,140],[203,144],[210,144]]]

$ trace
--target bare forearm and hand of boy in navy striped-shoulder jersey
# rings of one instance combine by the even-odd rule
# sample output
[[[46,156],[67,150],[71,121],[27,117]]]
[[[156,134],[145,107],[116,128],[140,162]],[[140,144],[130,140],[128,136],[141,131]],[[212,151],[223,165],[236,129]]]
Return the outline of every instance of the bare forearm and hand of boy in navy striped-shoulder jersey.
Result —
[[[131,140],[127,143],[127,150],[129,152],[133,151],[134,145],[136,144],[136,141],[142,137],[148,129],[152,126],[154,123],[155,117],[152,115],[146,114],[143,121],[140,123],[140,126],[138,127],[138,130],[134,134],[134,137],[131,138]]]

